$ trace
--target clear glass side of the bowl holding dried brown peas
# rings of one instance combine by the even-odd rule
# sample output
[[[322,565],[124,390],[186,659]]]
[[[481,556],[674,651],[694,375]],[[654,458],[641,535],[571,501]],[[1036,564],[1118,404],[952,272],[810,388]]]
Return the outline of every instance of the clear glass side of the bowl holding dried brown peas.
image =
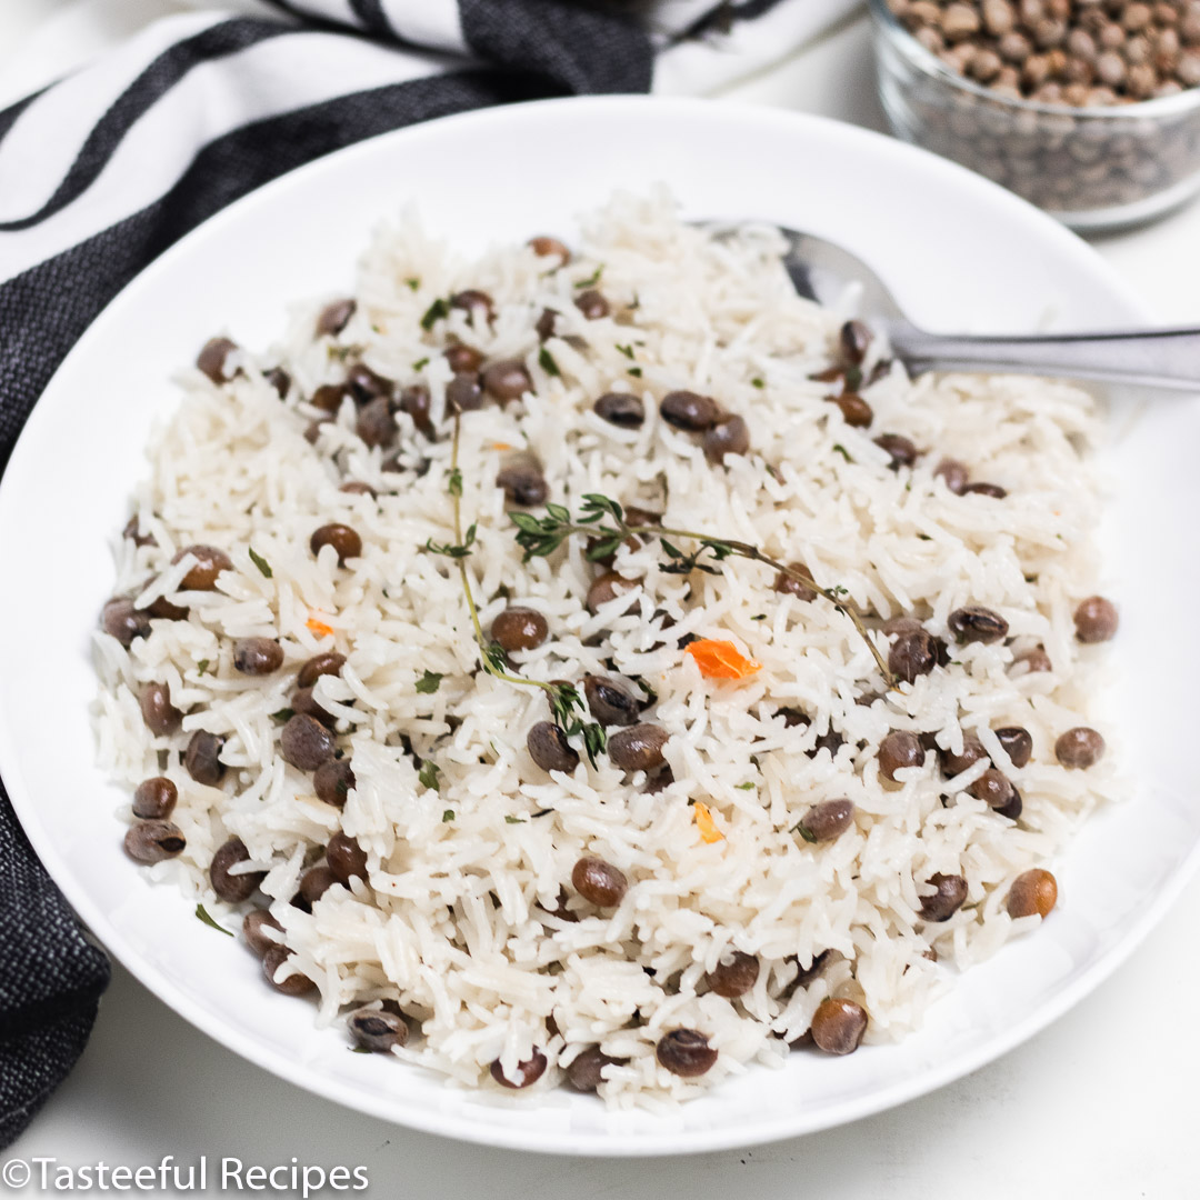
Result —
[[[1010,100],[958,74],[870,0],[892,131],[1079,230],[1162,216],[1200,191],[1200,88],[1120,107]]]

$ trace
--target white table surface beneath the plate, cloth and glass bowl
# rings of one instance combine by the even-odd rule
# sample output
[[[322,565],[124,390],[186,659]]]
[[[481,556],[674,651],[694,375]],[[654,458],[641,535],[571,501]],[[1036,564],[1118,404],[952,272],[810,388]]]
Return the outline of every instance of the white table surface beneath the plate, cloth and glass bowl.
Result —
[[[0,0],[0,107],[180,7]],[[236,7],[252,11],[253,0]],[[882,127],[862,19],[727,95]],[[1200,323],[1200,204],[1096,247],[1164,322]],[[235,1157],[269,1168],[296,1158],[361,1166],[371,1186],[354,1194],[389,1200],[1187,1200],[1200,1196],[1192,1090],[1200,1070],[1200,1022],[1192,1019],[1198,925],[1194,881],[1093,996],[932,1096],[810,1138],[656,1160],[481,1150],[360,1116],[244,1062],[116,966],[78,1067],[16,1145],[0,1151],[0,1163],[44,1157],[136,1168],[164,1154],[184,1163],[204,1154],[210,1164]],[[211,1171],[210,1194],[218,1194]]]

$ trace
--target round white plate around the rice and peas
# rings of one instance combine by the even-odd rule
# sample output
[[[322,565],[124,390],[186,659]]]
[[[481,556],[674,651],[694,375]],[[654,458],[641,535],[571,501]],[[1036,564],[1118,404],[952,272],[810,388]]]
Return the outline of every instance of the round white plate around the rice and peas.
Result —
[[[592,1097],[466,1093],[347,1052],[311,1006],[263,986],[257,961],[124,857],[121,797],[92,763],[89,634],[113,577],[109,541],[145,472],[168,377],[211,334],[264,346],[296,298],[336,293],[377,222],[415,202],[466,248],[533,233],[616,187],[666,182],[689,216],[757,217],[833,238],[876,265],[931,328],[1139,323],[1087,246],[1001,188],[910,146],[830,121],[692,101],[556,101],[377,138],[233,205],[166,253],[100,317],[54,377],[0,486],[5,580],[0,769],[50,874],[146,986],[233,1050],[318,1094],[469,1141],[556,1153],[709,1151],[821,1129],[919,1096],[1066,1012],[1129,953],[1198,858],[1187,728],[1200,556],[1171,516],[1200,508],[1200,407],[1117,404],[1108,541],[1122,606],[1117,727],[1133,797],[1055,865],[1061,905],[968,973],[923,1032],[848,1058],[793,1055],[677,1115],[607,1114]],[[1098,1048],[1103,1052],[1103,1048]],[[205,1103],[203,1098],[199,1103]]]

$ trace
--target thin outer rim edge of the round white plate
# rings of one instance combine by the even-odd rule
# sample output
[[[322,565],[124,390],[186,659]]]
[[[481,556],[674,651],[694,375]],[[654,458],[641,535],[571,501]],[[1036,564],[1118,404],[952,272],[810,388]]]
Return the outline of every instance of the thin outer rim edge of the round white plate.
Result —
[[[565,110],[572,115],[576,113],[581,115],[593,113],[608,116],[616,113],[642,114],[648,109],[655,114],[671,114],[672,120],[686,118],[689,121],[697,121],[697,124],[702,120],[706,126],[713,120],[738,124],[749,120],[763,126],[770,126],[780,133],[796,133],[799,130],[809,130],[814,134],[823,136],[826,139],[836,137],[838,144],[870,143],[872,150],[878,154],[883,163],[898,158],[908,160],[913,156],[919,156],[934,176],[946,181],[954,179],[964,190],[977,193],[980,197],[986,194],[995,205],[1014,214],[1021,212],[1028,220],[1037,222],[1044,236],[1061,247],[1064,254],[1069,253],[1072,259],[1078,262],[1081,268],[1086,264],[1087,274],[1093,281],[1104,281],[1105,284],[1110,286],[1114,289],[1114,294],[1120,295],[1122,307],[1128,308],[1130,316],[1139,312],[1144,319],[1148,317],[1145,306],[1128,294],[1128,288],[1117,272],[1110,264],[1099,258],[1094,250],[1086,246],[1086,244],[1072,235],[1067,229],[1057,226],[1050,217],[1036,210],[1027,202],[1021,200],[1013,193],[1000,188],[997,185],[949,160],[887,138],[876,131],[848,126],[811,114],[770,110],[745,103],[722,102],[718,106],[709,100],[683,97],[652,98],[644,96],[571,97],[515,106],[498,106],[454,114],[436,121],[419,122],[418,125],[402,127],[365,139],[287,173],[271,184],[264,185],[242,197],[214,217],[210,217],[202,226],[197,227],[196,230],[192,230],[168,248],[149,268],[143,270],[131,284],[122,289],[109,307],[128,302],[128,294],[134,288],[140,290],[146,286],[148,280],[154,282],[160,276],[169,274],[174,270],[176,262],[192,253],[197,242],[209,238],[215,230],[221,232],[230,224],[236,224],[248,212],[264,206],[270,208],[276,203],[277,196],[287,193],[289,188],[296,185],[298,176],[302,179],[316,178],[335,169],[344,169],[347,163],[371,161],[379,152],[380,146],[390,146],[392,143],[397,140],[403,142],[407,138],[433,137],[434,127],[437,131],[445,130],[451,125],[463,128],[470,127],[472,130],[503,127],[503,124],[508,122],[515,112],[524,114]],[[718,113],[721,115],[718,116]],[[331,164],[334,162],[336,162],[336,167]],[[106,308],[101,318],[97,318],[89,326],[68,358],[78,360],[82,353],[84,353],[80,352],[79,347],[84,346],[86,350],[96,341],[98,336],[96,326],[108,314],[108,311]],[[65,366],[66,364],[60,365],[59,371],[61,372]],[[26,430],[29,426],[32,426],[35,430],[43,426],[49,428],[52,418],[53,410],[38,406],[38,408],[35,408]],[[0,479],[0,523],[2,523],[6,512],[16,511],[20,504],[18,485],[22,474],[36,473],[38,470],[37,460],[30,457],[32,454],[31,440],[23,432],[10,467],[4,478]],[[13,470],[14,466],[17,467],[16,470]],[[5,715],[4,700],[4,689],[0,688],[0,763],[8,763],[16,768],[16,786],[12,796],[13,808],[18,812],[19,818],[28,820],[31,814],[34,815],[34,820],[28,827],[30,841],[43,858],[64,893],[78,908],[82,917],[97,926],[98,932],[112,935],[110,937],[104,936],[106,944],[134,978],[140,980],[160,1000],[169,1004],[193,1026],[239,1054],[246,1061],[262,1067],[283,1081],[304,1087],[325,1099],[343,1104],[350,1109],[383,1116],[408,1128],[508,1150],[588,1158],[690,1154],[761,1145],[784,1138],[793,1138],[803,1133],[815,1133],[832,1126],[871,1116],[896,1104],[914,1099],[1008,1052],[1073,1008],[1075,1003],[1106,979],[1133,953],[1176,900],[1196,870],[1200,869],[1200,840],[1198,840],[1189,847],[1184,860],[1160,883],[1151,902],[1145,905],[1130,919],[1129,926],[1123,932],[1118,944],[1110,947],[1096,961],[1091,962],[1086,970],[1076,974],[1055,992],[1048,1003],[1028,1014],[1024,1020],[1012,1024],[1002,1033],[997,1033],[992,1038],[973,1045],[968,1052],[941,1063],[935,1069],[926,1069],[906,1078],[895,1079],[876,1088],[865,1099],[851,1097],[832,1102],[822,1111],[820,1120],[815,1122],[798,1123],[790,1111],[780,1110],[769,1118],[758,1118],[750,1129],[742,1126],[734,1127],[733,1130],[721,1126],[682,1130],[666,1129],[655,1130],[653,1140],[650,1138],[642,1140],[644,1135],[616,1130],[606,1132],[602,1135],[576,1130],[566,1133],[550,1130],[547,1133],[547,1129],[536,1121],[530,1122],[522,1118],[518,1124],[515,1123],[512,1126],[475,1123],[470,1133],[464,1134],[463,1127],[470,1123],[470,1114],[468,1112],[458,1111],[446,1115],[436,1108],[425,1110],[409,1109],[404,1117],[398,1117],[390,1110],[385,1109],[380,1111],[378,1098],[376,1096],[368,1097],[365,1090],[356,1084],[348,1084],[344,1079],[314,1080],[307,1069],[307,1064],[300,1058],[284,1058],[270,1048],[264,1048],[252,1040],[248,1034],[242,1033],[224,1018],[214,1016],[199,1001],[193,998],[184,985],[166,976],[160,966],[145,959],[132,944],[130,935],[109,920],[91,893],[88,892],[84,884],[71,871],[70,866],[66,865],[66,860],[59,847],[37,818],[37,805],[32,798],[35,790],[26,784],[20,769],[20,761],[16,752],[16,743],[12,739],[7,724],[2,720]],[[186,900],[184,905],[186,907]]]

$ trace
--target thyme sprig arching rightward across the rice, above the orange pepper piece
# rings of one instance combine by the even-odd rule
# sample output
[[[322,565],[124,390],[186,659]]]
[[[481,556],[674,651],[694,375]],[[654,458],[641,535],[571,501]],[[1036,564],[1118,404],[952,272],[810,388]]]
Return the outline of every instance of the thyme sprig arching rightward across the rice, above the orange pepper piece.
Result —
[[[764,554],[749,541],[734,538],[714,538],[712,534],[697,533],[692,529],[668,529],[659,524],[630,524],[625,520],[625,510],[620,504],[598,492],[588,492],[582,497],[580,515],[576,517],[572,517],[562,504],[547,504],[544,517],[534,516],[532,512],[510,512],[509,517],[517,527],[516,541],[524,551],[524,562],[527,563],[530,558],[546,558],[554,553],[568,538],[581,534],[594,539],[587,551],[587,557],[592,562],[598,562],[614,553],[628,538],[635,535],[658,538],[659,545],[670,559],[660,569],[668,575],[688,575],[691,571],[718,575],[720,572],[713,563],[722,563],[727,558],[745,558],[752,563],[763,563],[787,578],[811,588],[818,595],[824,596],[839,612],[845,613],[866,643],[866,648],[871,652],[887,685],[890,688],[895,683],[887,661],[875,642],[871,641],[866,626],[863,624],[863,618],[850,602],[848,593],[844,587],[818,587],[803,571]],[[691,553],[684,553],[674,545],[673,539],[694,541],[697,546]],[[707,560],[702,562],[706,556]]]

